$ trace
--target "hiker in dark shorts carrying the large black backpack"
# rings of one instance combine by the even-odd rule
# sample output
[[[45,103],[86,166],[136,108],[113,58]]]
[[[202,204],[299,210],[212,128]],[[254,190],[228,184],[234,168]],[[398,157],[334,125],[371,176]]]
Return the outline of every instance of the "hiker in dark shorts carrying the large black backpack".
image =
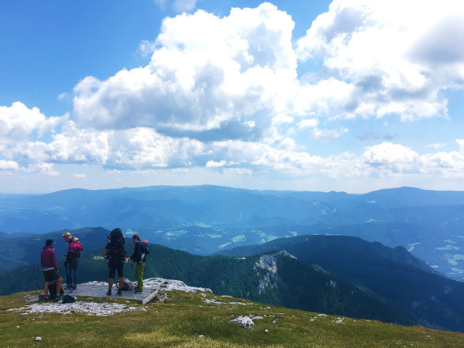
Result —
[[[119,277],[118,295],[121,295],[121,289],[124,283],[123,267],[124,260],[126,259],[126,249],[124,249],[124,245],[126,244],[126,240],[121,229],[118,228],[111,231],[107,240],[108,243],[103,251],[104,258],[108,260],[109,269],[108,292],[106,292],[106,295],[111,296],[111,289],[113,288],[116,271]]]

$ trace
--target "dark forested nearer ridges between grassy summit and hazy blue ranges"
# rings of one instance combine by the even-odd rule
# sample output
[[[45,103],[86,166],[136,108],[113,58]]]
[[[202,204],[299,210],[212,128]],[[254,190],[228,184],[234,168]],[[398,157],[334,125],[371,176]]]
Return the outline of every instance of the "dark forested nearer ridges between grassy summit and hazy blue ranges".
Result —
[[[108,233],[105,229],[81,232],[89,238]],[[48,237],[61,235],[55,234]],[[128,254],[132,247],[127,244]],[[29,250],[34,255],[40,252],[35,246],[34,252]],[[298,236],[223,253],[233,257],[202,257],[151,245],[144,277],[179,279],[209,287],[216,294],[294,309],[464,331],[464,284],[441,277],[402,247],[391,249],[355,237]],[[59,267],[62,262],[59,259]],[[129,264],[124,272],[134,278]],[[3,272],[0,277],[8,279],[0,294],[43,287],[37,264]],[[101,249],[83,253],[79,282],[107,277]]]

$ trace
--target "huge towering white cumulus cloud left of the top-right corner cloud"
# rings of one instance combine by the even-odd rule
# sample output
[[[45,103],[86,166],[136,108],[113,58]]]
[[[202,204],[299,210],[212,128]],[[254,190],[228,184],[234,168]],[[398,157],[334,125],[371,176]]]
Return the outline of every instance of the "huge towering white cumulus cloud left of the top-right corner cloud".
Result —
[[[295,89],[294,23],[276,6],[163,21],[151,62],[74,89],[74,119],[95,129],[150,127],[198,139],[262,137]]]

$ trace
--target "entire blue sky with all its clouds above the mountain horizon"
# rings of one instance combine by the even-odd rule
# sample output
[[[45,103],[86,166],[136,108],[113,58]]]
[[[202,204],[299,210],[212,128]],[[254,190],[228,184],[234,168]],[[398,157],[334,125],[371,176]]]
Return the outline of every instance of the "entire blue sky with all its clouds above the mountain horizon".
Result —
[[[464,189],[461,1],[3,1],[0,192]]]

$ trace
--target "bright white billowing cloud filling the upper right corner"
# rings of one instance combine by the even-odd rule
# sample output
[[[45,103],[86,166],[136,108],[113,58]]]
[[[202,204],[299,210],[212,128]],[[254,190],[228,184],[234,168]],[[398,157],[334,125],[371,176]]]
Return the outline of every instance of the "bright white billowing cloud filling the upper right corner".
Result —
[[[345,116],[443,116],[440,90],[464,85],[460,1],[335,0],[298,39],[298,58],[355,86]]]

